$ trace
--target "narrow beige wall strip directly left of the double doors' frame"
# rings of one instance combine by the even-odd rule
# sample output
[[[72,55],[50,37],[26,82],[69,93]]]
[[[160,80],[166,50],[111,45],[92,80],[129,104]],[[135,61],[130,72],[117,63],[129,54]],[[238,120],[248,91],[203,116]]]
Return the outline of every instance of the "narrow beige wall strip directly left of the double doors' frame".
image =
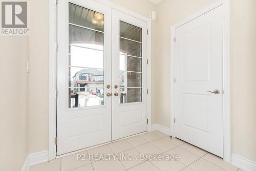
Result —
[[[49,1],[31,1],[29,153],[48,150]]]

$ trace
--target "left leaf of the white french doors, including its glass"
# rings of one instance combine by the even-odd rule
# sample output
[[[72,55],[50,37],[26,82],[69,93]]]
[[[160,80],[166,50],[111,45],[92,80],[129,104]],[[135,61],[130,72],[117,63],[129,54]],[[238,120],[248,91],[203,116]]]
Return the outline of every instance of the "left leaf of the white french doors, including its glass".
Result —
[[[111,141],[111,8],[89,0],[58,1],[57,25],[61,155]]]

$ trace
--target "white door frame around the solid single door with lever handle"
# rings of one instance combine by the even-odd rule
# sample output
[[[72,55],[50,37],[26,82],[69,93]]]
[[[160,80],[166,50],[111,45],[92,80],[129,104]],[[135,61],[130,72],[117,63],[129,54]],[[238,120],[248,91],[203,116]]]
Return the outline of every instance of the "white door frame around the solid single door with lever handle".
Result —
[[[218,0],[170,27],[170,133],[175,137],[175,29],[223,5],[223,159],[231,162],[230,0]]]

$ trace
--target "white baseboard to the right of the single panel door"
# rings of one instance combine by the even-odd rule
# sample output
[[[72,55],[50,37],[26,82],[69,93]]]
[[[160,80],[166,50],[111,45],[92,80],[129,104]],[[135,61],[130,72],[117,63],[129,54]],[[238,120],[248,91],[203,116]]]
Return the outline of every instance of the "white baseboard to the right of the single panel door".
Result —
[[[231,164],[246,171],[256,170],[256,162],[238,156],[236,154],[231,154]]]

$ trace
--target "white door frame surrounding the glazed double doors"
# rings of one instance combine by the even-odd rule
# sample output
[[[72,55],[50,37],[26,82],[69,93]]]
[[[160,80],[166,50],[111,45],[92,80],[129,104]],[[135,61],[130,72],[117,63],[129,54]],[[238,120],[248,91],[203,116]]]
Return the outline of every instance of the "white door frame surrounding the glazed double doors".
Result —
[[[62,1],[62,0],[59,0]],[[91,0],[109,6],[147,23],[147,100],[146,113],[148,118],[147,131],[151,131],[151,19],[119,5],[105,0]],[[48,132],[48,161],[57,157],[55,138],[57,133],[57,0],[49,0],[49,132]]]

